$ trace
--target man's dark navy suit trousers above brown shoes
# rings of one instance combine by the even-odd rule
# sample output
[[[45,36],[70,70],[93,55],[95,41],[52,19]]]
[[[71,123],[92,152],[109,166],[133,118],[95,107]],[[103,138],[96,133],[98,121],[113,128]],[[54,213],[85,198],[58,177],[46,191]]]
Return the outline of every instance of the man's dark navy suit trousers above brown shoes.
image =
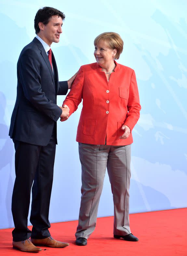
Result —
[[[48,215],[56,150],[55,129],[47,146],[13,141],[16,151],[16,179],[12,194],[12,215],[15,225],[12,231],[13,241],[22,241],[30,236],[35,239],[46,238],[50,236]],[[31,188],[32,232],[27,228]]]

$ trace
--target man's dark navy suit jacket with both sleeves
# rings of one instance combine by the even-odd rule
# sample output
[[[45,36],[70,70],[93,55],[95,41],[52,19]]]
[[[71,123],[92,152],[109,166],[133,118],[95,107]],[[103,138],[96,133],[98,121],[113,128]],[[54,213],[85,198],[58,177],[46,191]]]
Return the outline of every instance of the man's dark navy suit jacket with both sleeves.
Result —
[[[20,53],[17,64],[17,98],[11,117],[10,138],[46,146],[62,111],[57,95],[68,91],[67,81],[59,82],[52,53],[53,71],[41,42],[34,38]]]

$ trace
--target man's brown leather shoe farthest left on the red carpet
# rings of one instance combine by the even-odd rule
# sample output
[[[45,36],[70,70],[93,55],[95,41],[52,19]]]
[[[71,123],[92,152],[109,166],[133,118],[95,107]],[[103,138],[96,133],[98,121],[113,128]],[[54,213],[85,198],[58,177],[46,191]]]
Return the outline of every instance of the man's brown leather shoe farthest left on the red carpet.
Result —
[[[41,248],[35,247],[29,238],[24,241],[20,241],[20,242],[13,241],[12,245],[13,245],[14,249],[17,249],[20,251],[39,252],[42,250]]]

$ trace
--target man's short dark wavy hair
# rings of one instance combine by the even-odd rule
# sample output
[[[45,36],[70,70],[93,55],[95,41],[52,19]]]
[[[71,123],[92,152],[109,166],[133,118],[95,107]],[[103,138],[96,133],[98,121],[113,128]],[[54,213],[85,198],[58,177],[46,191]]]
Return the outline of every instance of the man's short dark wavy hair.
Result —
[[[63,12],[61,12],[53,7],[43,7],[41,9],[39,9],[34,18],[34,28],[35,28],[36,34],[38,34],[40,32],[40,28],[38,26],[39,22],[42,22],[43,24],[47,25],[50,18],[52,16],[56,16],[56,15],[61,17],[62,20],[65,19],[65,15],[63,14]]]

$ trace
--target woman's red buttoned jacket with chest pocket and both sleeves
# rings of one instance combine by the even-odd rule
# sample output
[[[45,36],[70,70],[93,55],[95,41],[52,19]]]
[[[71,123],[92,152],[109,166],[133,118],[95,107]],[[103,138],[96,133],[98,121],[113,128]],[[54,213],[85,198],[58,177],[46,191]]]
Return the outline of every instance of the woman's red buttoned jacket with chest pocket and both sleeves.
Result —
[[[115,62],[116,63],[116,62]],[[119,139],[130,130],[140,117],[140,101],[133,69],[116,63],[109,82],[97,63],[80,67],[73,86],[63,104],[76,111],[83,99],[76,141],[88,144],[128,145],[133,142],[132,132],[127,139]]]

